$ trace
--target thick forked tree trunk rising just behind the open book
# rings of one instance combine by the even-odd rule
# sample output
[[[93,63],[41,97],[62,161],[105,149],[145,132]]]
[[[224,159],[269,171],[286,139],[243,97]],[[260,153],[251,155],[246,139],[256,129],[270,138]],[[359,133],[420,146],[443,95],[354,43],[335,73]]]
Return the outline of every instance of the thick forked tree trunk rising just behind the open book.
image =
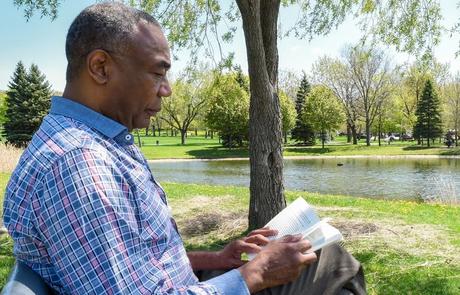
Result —
[[[278,78],[279,0],[236,0],[246,40],[249,107],[249,229],[264,226],[285,206]]]

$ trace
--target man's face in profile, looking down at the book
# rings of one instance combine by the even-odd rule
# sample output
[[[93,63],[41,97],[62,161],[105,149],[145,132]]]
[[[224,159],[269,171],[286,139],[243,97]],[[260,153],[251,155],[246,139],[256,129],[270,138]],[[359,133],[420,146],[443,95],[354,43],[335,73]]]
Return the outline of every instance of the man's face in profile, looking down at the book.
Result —
[[[160,28],[140,23],[130,49],[113,54],[115,67],[109,82],[111,113],[133,128],[149,126],[161,110],[161,98],[171,95],[166,73],[171,66],[168,42]]]

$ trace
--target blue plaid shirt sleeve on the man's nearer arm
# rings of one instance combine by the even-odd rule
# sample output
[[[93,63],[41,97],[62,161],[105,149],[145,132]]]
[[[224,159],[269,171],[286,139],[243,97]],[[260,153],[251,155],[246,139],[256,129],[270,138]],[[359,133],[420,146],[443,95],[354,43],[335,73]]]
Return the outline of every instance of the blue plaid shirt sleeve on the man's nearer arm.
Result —
[[[132,198],[130,189],[110,159],[89,149],[67,153],[45,175],[32,209],[62,291],[237,294],[228,292],[244,283],[235,272],[209,283],[175,285],[178,274],[166,269],[161,253],[143,243],[136,207],[123,201]]]

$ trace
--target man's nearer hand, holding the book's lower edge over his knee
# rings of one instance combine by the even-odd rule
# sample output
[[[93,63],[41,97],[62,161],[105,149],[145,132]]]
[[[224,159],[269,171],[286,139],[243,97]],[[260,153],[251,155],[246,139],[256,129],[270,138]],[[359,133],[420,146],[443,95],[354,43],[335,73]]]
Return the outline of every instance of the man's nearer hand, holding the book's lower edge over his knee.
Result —
[[[302,269],[316,261],[315,253],[305,253],[310,242],[301,236],[286,236],[270,242],[239,271],[251,293],[295,280]]]

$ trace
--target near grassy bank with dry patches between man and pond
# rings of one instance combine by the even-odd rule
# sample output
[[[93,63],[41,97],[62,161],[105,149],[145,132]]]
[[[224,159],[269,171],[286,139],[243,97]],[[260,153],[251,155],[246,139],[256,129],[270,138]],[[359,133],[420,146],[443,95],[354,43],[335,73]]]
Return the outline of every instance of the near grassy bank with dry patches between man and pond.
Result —
[[[0,174],[0,193],[8,175]],[[243,187],[163,184],[188,249],[218,249],[246,229]],[[345,235],[370,294],[459,294],[460,207],[287,192],[302,196]],[[1,201],[1,200],[0,200]],[[14,263],[0,237],[0,286]]]

